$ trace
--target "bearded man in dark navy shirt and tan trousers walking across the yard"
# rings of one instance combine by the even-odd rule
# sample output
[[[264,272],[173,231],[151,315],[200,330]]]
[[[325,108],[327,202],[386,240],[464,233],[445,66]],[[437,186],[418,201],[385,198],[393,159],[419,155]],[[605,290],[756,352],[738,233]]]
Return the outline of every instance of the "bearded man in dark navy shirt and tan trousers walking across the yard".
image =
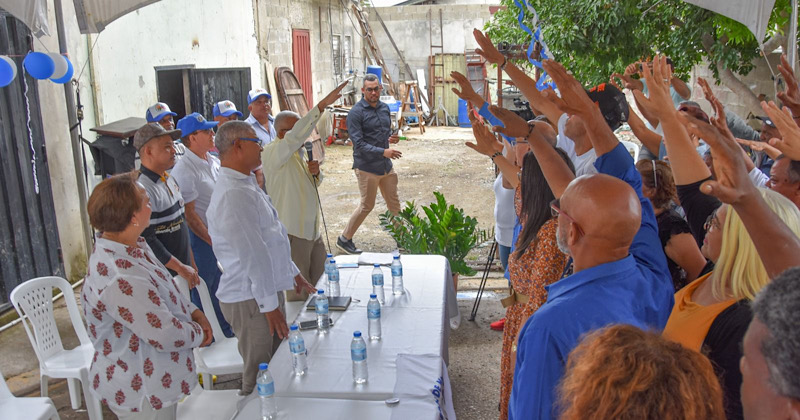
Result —
[[[361,253],[353,243],[353,235],[375,207],[378,189],[389,212],[400,212],[397,173],[392,169],[392,159],[399,159],[403,154],[389,148],[390,143],[397,143],[400,138],[392,135],[389,106],[380,100],[381,89],[380,80],[374,74],[364,76],[361,88],[364,98],[347,115],[347,132],[353,142],[353,170],[361,193],[361,203],[336,240],[336,246],[348,254]]]

